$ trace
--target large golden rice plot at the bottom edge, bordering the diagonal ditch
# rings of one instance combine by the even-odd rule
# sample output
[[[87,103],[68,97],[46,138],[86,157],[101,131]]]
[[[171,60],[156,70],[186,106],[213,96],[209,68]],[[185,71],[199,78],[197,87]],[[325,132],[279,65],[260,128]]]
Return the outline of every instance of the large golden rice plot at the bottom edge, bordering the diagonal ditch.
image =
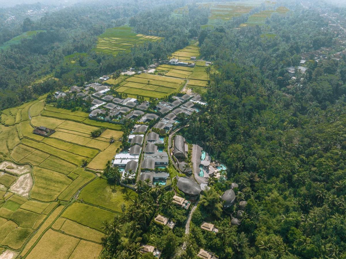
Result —
[[[49,229],[26,258],[69,258],[79,242],[78,238]]]

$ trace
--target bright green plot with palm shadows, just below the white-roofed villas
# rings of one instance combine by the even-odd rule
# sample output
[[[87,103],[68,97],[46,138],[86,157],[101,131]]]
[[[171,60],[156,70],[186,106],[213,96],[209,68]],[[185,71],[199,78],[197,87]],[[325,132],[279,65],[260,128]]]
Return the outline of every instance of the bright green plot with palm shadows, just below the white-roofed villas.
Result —
[[[121,204],[128,207],[137,193],[119,185],[109,185],[105,179],[96,179],[86,185],[78,199],[115,212],[121,212]]]

